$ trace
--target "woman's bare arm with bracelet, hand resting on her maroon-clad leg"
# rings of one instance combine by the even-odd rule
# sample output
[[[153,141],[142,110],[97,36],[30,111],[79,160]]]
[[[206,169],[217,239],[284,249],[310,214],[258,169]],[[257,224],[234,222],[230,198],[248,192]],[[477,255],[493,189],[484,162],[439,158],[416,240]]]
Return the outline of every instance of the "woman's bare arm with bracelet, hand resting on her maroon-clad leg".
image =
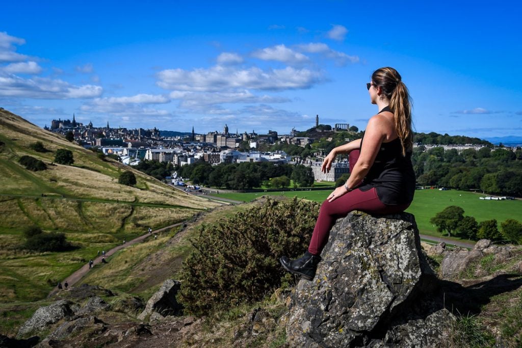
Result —
[[[368,121],[368,125],[366,126],[366,131],[364,133],[364,142],[362,143],[361,154],[359,155],[359,159],[357,160],[357,163],[355,163],[353,171],[350,174],[350,177],[348,178],[346,185],[337,187],[328,196],[328,201],[334,201],[340,196],[346,194],[348,192],[348,190],[346,189],[347,187],[349,189],[353,189],[358,183],[362,181],[366,174],[368,174],[368,171],[370,171],[370,168],[372,167],[373,162],[375,161],[375,157],[377,157],[377,153],[379,152],[381,144],[383,140],[386,138],[387,134],[387,123],[381,117],[382,116],[380,115],[375,115],[372,118],[370,118],[370,121]]]

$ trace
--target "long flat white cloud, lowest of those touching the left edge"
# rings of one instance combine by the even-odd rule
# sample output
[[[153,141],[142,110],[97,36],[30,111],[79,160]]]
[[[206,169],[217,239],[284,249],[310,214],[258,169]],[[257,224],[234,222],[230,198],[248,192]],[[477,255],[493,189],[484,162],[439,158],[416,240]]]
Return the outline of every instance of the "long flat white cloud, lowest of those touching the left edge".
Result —
[[[0,75],[0,95],[34,99],[71,99],[99,97],[100,86],[75,86],[60,79],[34,77],[24,79],[16,75]]]

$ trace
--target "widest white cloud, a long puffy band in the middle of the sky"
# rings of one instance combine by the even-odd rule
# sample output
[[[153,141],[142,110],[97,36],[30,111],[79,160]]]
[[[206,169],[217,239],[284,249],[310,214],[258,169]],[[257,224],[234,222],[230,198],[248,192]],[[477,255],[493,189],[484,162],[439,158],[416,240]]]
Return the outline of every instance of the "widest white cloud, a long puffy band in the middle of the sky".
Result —
[[[157,85],[177,91],[223,91],[225,89],[287,90],[305,89],[324,81],[322,73],[310,69],[262,70],[214,66],[209,69],[168,69],[157,74]]]

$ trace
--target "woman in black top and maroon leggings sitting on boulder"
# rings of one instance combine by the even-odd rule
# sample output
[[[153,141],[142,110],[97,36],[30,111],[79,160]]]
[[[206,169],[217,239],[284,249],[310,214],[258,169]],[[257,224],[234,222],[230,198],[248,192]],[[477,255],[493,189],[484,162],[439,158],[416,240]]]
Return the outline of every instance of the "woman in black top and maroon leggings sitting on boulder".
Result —
[[[331,150],[321,167],[329,172],[336,155],[348,153],[348,181],[323,202],[308,251],[296,260],[287,256],[279,260],[284,269],[306,280],[315,276],[319,255],[336,219],[353,210],[399,213],[413,200],[415,173],[411,165],[413,133],[408,89],[397,70],[390,67],[375,70],[366,87],[379,112],[370,118],[362,139]]]

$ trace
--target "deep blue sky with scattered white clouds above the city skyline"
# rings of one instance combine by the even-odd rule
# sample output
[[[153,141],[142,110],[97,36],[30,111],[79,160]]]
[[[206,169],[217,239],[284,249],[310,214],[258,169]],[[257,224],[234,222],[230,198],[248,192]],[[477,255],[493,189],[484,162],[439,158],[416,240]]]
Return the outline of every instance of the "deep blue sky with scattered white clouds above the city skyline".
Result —
[[[0,106],[42,127],[364,129],[392,66],[417,131],[522,136],[518,2],[72,3],[2,5]]]

